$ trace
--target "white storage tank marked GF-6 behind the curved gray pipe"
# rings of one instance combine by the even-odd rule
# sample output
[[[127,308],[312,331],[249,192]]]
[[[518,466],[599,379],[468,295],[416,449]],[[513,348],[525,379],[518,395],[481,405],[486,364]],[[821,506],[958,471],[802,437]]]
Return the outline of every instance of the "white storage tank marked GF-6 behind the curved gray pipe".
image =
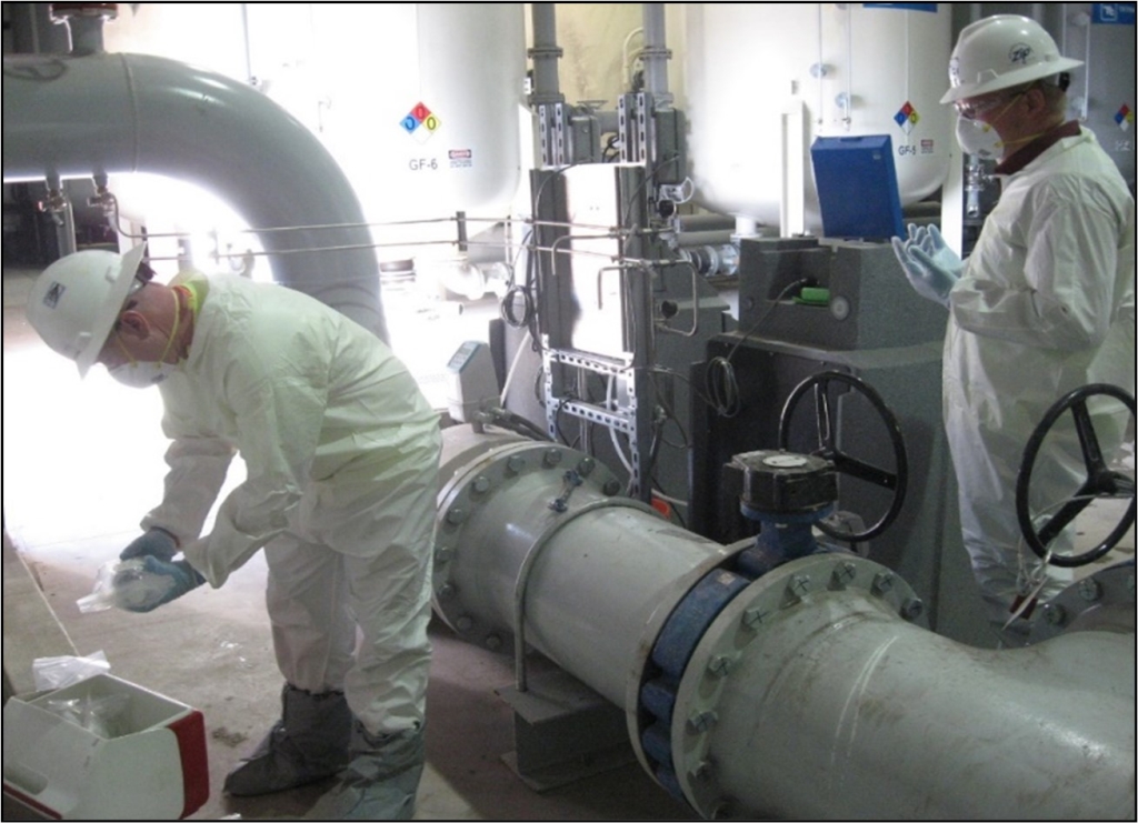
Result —
[[[142,3],[106,42],[253,83],[320,138],[369,221],[504,215],[521,181],[522,3]]]

